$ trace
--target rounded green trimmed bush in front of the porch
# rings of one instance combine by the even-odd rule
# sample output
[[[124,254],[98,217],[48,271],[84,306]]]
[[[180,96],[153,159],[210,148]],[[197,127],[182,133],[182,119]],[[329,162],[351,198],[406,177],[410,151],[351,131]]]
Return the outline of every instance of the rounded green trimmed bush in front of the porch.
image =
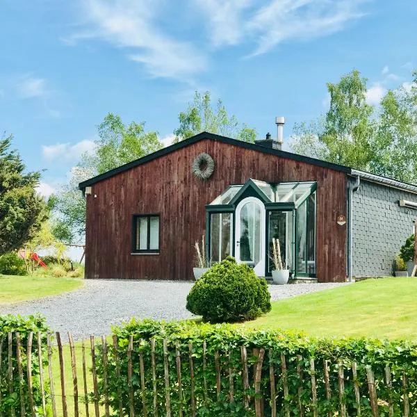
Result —
[[[265,278],[228,256],[195,282],[187,309],[209,322],[254,320],[270,311],[270,297]]]

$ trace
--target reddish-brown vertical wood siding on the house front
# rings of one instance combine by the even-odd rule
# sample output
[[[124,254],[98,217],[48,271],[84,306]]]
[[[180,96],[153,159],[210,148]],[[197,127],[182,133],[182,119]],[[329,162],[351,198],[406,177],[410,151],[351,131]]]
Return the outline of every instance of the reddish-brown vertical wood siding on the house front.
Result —
[[[207,152],[215,172],[206,182],[191,173]],[[345,281],[346,174],[214,140],[200,140],[92,186],[87,196],[85,277],[192,279],[193,244],[205,231],[205,205],[230,184],[317,181],[318,281]],[[97,197],[95,197],[97,195]],[[133,214],[161,215],[161,254],[131,255]]]

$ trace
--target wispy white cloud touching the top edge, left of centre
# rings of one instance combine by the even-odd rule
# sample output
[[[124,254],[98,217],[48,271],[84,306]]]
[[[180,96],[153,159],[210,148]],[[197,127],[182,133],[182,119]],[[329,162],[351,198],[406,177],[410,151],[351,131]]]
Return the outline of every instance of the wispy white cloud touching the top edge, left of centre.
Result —
[[[128,49],[127,56],[156,77],[187,79],[206,68],[206,57],[190,42],[174,40],[155,22],[161,1],[84,0],[88,28],[66,42],[98,38]]]

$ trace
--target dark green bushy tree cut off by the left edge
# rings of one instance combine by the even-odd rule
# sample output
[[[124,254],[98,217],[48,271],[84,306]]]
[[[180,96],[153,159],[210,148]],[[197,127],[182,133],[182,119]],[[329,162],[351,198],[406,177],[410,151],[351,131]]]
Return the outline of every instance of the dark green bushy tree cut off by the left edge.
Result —
[[[40,173],[25,173],[19,154],[10,151],[13,136],[0,140],[0,255],[22,247],[47,218],[36,193]]]

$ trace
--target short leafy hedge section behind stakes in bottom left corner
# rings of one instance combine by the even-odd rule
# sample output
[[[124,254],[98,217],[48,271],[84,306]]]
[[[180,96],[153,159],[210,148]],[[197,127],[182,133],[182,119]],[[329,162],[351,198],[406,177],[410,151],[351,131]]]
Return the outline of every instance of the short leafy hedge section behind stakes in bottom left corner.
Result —
[[[24,404],[26,404],[26,412],[24,416],[30,416],[31,411],[29,407],[28,383],[26,378],[27,368],[27,342],[28,334],[33,332],[32,343],[32,377],[33,377],[33,402],[35,409],[38,410],[38,415],[42,415],[42,393],[40,390],[40,372],[38,360],[38,332],[41,332],[41,349],[42,362],[44,366],[47,365],[47,332],[49,328],[46,325],[46,320],[40,315],[36,316],[12,316],[11,314],[0,316],[0,412],[2,416],[12,416],[14,409],[15,416],[23,417],[21,411],[20,395],[24,395]],[[10,384],[8,379],[9,363],[8,363],[8,332],[13,332],[12,338],[12,373],[13,379]],[[17,338],[16,333],[19,333],[20,353],[22,358],[23,382],[19,379],[19,366],[17,363]],[[45,378],[45,388],[47,391],[48,384]],[[10,391],[12,393],[10,393]]]

